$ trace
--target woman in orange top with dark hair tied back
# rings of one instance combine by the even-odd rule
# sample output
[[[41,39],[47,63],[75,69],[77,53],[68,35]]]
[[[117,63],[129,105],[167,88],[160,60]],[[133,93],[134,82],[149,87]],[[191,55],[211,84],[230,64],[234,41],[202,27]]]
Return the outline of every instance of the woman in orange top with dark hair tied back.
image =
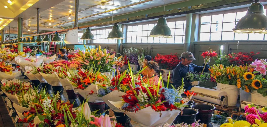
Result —
[[[145,68],[146,67],[146,68]],[[145,68],[142,71],[142,74],[144,75],[143,77],[143,82],[148,83],[157,86],[159,82],[159,76],[158,75],[163,75],[163,70],[159,69],[158,63],[154,61],[144,61],[143,62],[143,68]],[[162,81],[160,81],[160,86],[162,86]]]

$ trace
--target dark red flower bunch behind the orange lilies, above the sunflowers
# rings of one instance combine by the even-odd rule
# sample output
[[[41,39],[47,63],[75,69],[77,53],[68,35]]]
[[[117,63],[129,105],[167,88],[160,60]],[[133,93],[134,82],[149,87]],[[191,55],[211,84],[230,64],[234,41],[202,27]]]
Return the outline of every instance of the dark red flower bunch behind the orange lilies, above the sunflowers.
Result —
[[[228,56],[226,56],[226,58],[229,59],[230,65],[236,65],[236,66],[240,66],[240,65],[245,65],[245,64],[251,64],[252,61],[254,61],[254,57],[255,55],[260,54],[260,52],[258,53],[254,53],[254,52],[250,52],[250,53],[246,53],[246,52],[239,52],[239,53],[232,53],[232,54],[228,54]]]

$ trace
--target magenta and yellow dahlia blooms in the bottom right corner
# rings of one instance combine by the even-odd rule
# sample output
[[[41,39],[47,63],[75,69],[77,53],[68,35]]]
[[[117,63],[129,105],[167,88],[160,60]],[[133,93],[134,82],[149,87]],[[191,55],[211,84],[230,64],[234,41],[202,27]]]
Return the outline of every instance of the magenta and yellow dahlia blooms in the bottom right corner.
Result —
[[[255,106],[254,104],[248,104],[245,107],[245,115],[246,120],[233,120],[229,119],[228,123],[222,124],[220,127],[223,126],[258,126],[258,127],[265,127],[267,125],[267,107],[262,107],[262,111],[265,113],[260,114],[259,106]]]

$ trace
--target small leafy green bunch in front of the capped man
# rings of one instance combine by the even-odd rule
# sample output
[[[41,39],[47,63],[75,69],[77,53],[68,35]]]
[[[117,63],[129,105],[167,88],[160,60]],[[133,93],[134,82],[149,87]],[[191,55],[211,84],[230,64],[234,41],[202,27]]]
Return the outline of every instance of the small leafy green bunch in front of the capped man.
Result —
[[[188,72],[185,78],[189,79],[192,82],[193,81],[205,82],[210,79],[210,74],[206,72],[204,72],[203,74],[201,74],[201,72],[197,73]]]

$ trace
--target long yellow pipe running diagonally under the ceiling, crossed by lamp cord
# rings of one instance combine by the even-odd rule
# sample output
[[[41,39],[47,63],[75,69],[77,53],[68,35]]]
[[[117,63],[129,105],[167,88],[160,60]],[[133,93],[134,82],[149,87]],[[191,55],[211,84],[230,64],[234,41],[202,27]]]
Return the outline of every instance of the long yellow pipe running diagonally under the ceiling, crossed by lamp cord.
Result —
[[[95,16],[95,15],[104,14],[104,13],[111,12],[111,11],[116,11],[116,10],[123,9],[123,8],[126,8],[126,7],[131,7],[131,6],[134,6],[134,5],[139,5],[139,4],[141,4],[141,3],[146,3],[146,2],[150,2],[150,1],[153,1],[153,0],[144,0],[144,1],[137,2],[137,3],[133,3],[133,4],[130,4],[130,5],[126,5],[126,6],[118,7],[118,8],[116,8],[116,9],[112,9],[112,10],[108,10],[108,11],[103,11],[103,12],[96,13],[96,14],[93,14],[93,15],[88,15],[88,16],[79,18],[78,20],[85,19],[85,18],[88,18],[88,17],[92,17],[92,16]],[[59,23],[59,24],[56,24],[56,25],[54,25],[54,26],[58,26],[58,25],[65,24],[65,23],[70,23],[70,22],[73,22],[73,21],[74,21],[74,20],[71,20],[71,21],[68,21],[68,22],[64,22],[64,23]],[[50,27],[54,27],[54,26],[50,26]]]

